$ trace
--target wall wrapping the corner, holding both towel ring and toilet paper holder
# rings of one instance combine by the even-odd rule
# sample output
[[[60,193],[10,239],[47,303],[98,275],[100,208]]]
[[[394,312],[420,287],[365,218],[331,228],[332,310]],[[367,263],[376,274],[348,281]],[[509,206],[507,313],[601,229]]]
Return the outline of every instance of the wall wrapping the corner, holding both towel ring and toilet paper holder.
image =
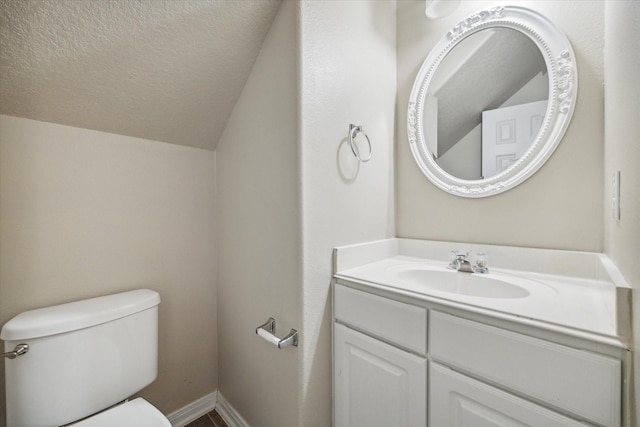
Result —
[[[393,2],[283,2],[217,149],[220,393],[250,425],[331,425],[331,251],[394,234],[394,99]]]

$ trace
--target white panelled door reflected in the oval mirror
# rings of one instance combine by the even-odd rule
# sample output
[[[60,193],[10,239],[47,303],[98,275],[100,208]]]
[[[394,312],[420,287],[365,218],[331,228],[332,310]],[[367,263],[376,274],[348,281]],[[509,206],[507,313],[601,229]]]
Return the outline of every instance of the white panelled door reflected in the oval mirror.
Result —
[[[547,101],[482,112],[482,177],[506,170],[531,146],[542,126]]]

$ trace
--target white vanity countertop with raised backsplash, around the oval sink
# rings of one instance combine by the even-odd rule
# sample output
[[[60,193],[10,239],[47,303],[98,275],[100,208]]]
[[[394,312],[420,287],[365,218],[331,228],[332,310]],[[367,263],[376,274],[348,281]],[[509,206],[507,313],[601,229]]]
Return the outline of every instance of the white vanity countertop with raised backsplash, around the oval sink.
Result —
[[[596,339],[618,347],[628,345],[624,334],[628,330],[628,318],[625,319],[628,314],[619,313],[620,307],[625,306],[619,300],[630,298],[630,289],[626,283],[620,283],[618,273],[611,271],[612,268],[615,270],[615,266],[607,265],[608,258],[603,258],[602,254],[487,245],[479,247],[489,255],[489,273],[481,276],[498,280],[512,278],[529,283],[527,289],[530,294],[522,298],[491,298],[443,292],[398,278],[396,273],[399,270],[421,268],[458,275],[478,274],[446,270],[448,262],[445,259],[449,251],[443,249],[447,245],[463,246],[389,239],[337,248],[334,252],[334,275],[339,280],[390,290],[419,300],[481,311],[502,318],[511,317],[517,322]],[[510,249],[519,254],[519,269],[507,268]],[[433,253],[442,253],[444,259],[415,256]],[[492,258],[497,265],[492,266]],[[535,265],[526,269],[523,259]],[[583,268],[581,264],[585,264]],[[577,273],[573,271],[574,267],[567,268],[567,265],[577,266]]]

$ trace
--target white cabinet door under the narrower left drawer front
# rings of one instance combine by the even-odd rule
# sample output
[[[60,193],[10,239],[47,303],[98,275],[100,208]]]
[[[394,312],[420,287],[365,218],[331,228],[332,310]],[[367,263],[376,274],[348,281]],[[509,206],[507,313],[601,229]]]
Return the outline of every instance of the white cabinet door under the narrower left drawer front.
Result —
[[[427,362],[346,326],[334,326],[336,427],[424,427]]]

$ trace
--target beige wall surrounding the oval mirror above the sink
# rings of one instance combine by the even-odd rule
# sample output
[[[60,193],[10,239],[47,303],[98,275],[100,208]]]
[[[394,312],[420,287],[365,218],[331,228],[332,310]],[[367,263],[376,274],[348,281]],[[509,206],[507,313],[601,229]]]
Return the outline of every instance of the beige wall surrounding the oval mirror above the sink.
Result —
[[[519,187],[465,199],[437,189],[415,164],[406,131],[413,80],[429,50],[469,14],[498,4],[529,7],[559,26],[578,66],[578,99],[551,159]],[[396,226],[400,237],[601,251],[603,191],[603,3],[463,1],[450,16],[428,20],[424,1],[398,2]]]

